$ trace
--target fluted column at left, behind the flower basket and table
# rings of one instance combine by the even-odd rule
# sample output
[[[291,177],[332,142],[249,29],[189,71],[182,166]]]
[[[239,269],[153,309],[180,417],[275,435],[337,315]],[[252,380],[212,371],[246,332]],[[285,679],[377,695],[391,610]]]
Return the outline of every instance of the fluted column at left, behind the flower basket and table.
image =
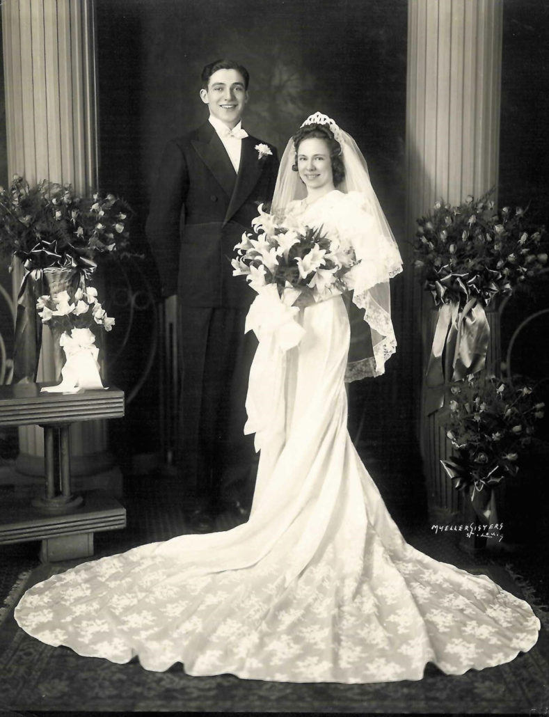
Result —
[[[48,179],[70,183],[78,193],[95,190],[93,0],[7,0],[2,3],[2,29],[10,178],[21,174],[29,184]],[[21,279],[20,267],[16,267],[14,300]],[[37,380],[56,378],[52,339],[44,330]],[[113,465],[107,452],[105,422],[75,424],[70,437],[76,487],[82,483],[79,475],[97,477]],[[43,474],[42,429],[20,428],[19,450],[19,473]],[[103,478],[91,485],[105,485]],[[19,482],[24,483],[24,478]]]

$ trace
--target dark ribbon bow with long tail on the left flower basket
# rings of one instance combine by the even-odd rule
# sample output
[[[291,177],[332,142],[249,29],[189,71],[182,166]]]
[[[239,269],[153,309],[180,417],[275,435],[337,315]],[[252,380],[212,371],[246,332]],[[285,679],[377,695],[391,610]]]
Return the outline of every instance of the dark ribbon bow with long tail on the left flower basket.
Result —
[[[24,274],[17,295],[14,384],[37,379],[42,346],[42,321],[36,308],[38,298],[82,285],[97,267],[82,250],[72,245],[69,249],[70,253],[64,247],[59,254],[57,241],[41,239],[29,252],[15,252],[15,256],[22,261]]]

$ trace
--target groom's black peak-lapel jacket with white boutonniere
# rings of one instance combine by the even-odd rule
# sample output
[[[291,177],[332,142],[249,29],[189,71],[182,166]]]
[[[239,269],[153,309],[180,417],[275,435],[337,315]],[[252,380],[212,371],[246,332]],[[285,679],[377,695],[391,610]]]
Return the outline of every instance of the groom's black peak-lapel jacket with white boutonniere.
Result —
[[[262,156],[248,136],[235,173],[209,122],[168,142],[151,199],[146,234],[163,295],[178,293],[189,307],[246,308],[254,299],[230,260],[257,206],[270,201],[277,178],[276,148]]]

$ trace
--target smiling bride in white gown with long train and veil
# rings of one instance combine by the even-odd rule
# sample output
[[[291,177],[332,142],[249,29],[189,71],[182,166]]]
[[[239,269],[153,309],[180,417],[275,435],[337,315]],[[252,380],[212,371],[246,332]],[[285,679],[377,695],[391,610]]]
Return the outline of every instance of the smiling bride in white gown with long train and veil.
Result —
[[[249,521],[54,575],[24,594],[17,622],[80,655],[190,675],[371,683],[420,680],[429,661],[453,675],[510,662],[535,645],[538,618],[408,545],[347,432],[345,374],[383,373],[396,348],[388,280],[401,260],[363,157],[330,118],[312,115],[288,143],[273,208],[353,248],[347,283],[366,321],[350,322],[339,294],[300,299],[282,340],[256,287]]]

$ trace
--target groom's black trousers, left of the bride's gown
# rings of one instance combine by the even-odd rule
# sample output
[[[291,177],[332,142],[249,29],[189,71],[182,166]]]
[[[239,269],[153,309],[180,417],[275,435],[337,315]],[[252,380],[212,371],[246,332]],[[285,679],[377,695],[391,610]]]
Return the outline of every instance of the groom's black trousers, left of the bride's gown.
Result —
[[[182,357],[178,470],[199,507],[252,504],[258,456],[244,436],[249,369],[257,348],[247,308],[178,306]]]

